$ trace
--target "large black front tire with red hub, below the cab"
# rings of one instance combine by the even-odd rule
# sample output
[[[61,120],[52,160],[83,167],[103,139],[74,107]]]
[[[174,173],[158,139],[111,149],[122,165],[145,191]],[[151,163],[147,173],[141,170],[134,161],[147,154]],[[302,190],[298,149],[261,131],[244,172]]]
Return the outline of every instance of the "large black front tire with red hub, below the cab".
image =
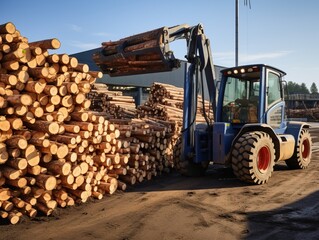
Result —
[[[232,149],[232,169],[242,181],[264,184],[271,177],[275,165],[275,148],[265,132],[244,133]]]

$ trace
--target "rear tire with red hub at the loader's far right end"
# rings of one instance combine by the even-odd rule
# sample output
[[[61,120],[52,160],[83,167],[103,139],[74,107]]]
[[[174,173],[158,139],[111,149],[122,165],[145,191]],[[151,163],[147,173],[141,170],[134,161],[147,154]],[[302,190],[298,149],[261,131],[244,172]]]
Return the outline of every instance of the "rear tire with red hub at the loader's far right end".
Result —
[[[311,161],[312,140],[307,129],[303,128],[295,146],[292,157],[286,160],[286,164],[291,169],[305,169]]]

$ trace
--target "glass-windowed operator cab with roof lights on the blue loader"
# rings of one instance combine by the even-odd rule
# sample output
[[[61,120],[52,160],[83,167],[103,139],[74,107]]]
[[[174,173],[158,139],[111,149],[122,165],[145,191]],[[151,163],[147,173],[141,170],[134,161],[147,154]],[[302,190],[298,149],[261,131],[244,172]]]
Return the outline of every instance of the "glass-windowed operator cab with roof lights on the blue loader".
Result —
[[[284,75],[283,71],[262,64],[222,70],[217,122],[230,123],[235,128],[254,123],[282,128]]]

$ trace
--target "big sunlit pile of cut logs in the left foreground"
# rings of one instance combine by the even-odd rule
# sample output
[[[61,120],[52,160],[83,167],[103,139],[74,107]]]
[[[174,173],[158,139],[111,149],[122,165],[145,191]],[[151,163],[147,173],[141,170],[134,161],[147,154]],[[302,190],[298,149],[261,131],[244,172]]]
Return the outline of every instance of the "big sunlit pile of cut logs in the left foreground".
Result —
[[[12,224],[126,186],[120,131],[87,111],[102,73],[48,51],[59,47],[0,25],[0,217]]]

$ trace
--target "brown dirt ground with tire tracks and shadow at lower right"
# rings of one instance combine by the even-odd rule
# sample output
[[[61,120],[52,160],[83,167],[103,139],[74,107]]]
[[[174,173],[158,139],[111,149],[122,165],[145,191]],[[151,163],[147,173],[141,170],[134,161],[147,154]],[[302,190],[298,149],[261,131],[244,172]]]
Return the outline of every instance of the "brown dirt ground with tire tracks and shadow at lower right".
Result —
[[[318,129],[312,129],[319,148]],[[319,152],[306,170],[275,167],[247,185],[212,166],[200,178],[171,173],[52,217],[0,225],[0,239],[319,239]]]

